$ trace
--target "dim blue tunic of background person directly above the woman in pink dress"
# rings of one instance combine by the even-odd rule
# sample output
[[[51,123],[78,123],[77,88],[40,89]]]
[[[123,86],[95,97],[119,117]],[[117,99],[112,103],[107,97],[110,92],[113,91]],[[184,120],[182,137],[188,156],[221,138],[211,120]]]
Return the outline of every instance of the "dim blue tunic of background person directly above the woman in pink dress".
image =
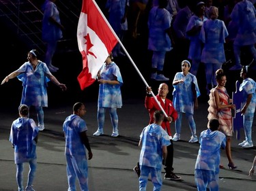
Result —
[[[200,39],[204,43],[201,54],[202,63],[223,64],[226,61],[224,52],[227,28],[222,20],[205,20],[201,28]]]

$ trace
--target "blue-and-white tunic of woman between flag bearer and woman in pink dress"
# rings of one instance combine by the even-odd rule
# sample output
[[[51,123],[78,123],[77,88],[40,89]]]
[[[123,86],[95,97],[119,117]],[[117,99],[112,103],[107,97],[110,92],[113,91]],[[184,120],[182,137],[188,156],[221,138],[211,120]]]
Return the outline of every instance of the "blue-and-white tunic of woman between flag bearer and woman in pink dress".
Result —
[[[199,86],[197,84],[197,77],[192,73],[184,75],[182,72],[177,72],[173,79],[183,80],[184,83],[177,84],[173,89],[173,105],[176,111],[182,113],[194,114],[194,97],[192,88],[197,92],[197,97],[200,96]],[[195,85],[195,86],[193,86]]]

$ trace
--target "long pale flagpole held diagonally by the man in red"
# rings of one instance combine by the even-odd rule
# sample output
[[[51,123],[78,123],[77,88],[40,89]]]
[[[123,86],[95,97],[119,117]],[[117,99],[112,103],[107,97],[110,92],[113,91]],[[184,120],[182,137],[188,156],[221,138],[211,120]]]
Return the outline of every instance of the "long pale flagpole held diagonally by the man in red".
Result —
[[[86,0],[85,0],[86,1]],[[124,52],[126,53],[126,56],[128,56],[130,62],[132,63],[133,67],[136,69],[137,73],[139,73],[139,76],[141,77],[141,80],[144,82],[146,88],[150,87],[147,82],[145,81],[145,78],[143,77],[143,75],[141,74],[141,71],[139,71],[137,65],[135,65],[134,61],[132,60],[132,58],[130,57],[130,54],[127,52],[126,48],[124,47],[124,45],[122,44],[122,41],[119,39],[119,37],[117,36],[117,34],[115,33],[115,31],[113,30],[113,28],[111,27],[111,24],[109,24],[109,21],[106,19],[106,17],[104,16],[104,14],[102,13],[102,11],[100,10],[100,7],[98,6],[98,4],[96,3],[95,0],[91,0],[94,2],[94,5],[96,6],[96,8],[98,9],[98,11],[100,12],[102,18],[104,19],[104,21],[106,22],[106,24],[108,25],[109,29],[111,29],[111,32],[113,33],[113,35],[115,36],[115,38],[117,39],[117,41],[119,42],[120,46],[122,47],[122,49],[124,50]],[[154,94],[153,91],[150,92],[152,94],[152,96],[154,97],[156,103],[158,104],[158,106],[160,107],[160,109],[162,110],[162,112],[165,114],[165,117],[168,117],[165,110],[162,108],[162,105],[160,105],[159,101],[156,99],[156,96]]]

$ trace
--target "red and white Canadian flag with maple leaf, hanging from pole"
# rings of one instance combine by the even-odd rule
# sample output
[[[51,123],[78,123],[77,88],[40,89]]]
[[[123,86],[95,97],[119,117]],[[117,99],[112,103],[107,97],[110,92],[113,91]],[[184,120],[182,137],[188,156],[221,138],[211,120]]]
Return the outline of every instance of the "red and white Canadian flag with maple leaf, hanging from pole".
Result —
[[[83,90],[93,84],[97,73],[117,44],[117,38],[94,0],[83,0],[77,27],[77,42],[83,57],[83,71],[77,77]]]

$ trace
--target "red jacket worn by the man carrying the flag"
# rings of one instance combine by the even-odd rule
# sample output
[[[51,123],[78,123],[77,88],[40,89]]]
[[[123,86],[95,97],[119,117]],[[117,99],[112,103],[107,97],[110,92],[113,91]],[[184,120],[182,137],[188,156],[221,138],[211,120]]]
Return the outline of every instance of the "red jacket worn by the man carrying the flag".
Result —
[[[167,116],[171,116],[173,118],[173,122],[177,120],[177,111],[173,107],[173,102],[169,99],[165,99],[165,103],[162,101],[162,99],[156,95],[156,99],[160,102],[160,105],[165,110]],[[158,103],[156,103],[154,97],[146,97],[145,98],[145,107],[148,110],[150,114],[150,124],[154,123],[154,111],[161,110]],[[164,120],[161,124],[162,128],[167,131],[168,135],[171,136],[171,128],[170,128],[170,122],[167,120]]]

